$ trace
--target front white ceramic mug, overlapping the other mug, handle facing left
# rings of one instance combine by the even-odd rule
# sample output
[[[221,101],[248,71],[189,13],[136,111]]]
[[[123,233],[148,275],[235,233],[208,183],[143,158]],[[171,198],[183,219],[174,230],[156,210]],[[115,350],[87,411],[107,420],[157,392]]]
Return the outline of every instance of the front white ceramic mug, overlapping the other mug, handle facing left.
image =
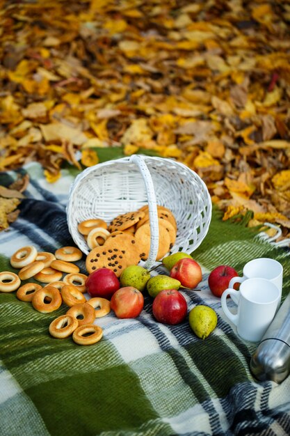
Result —
[[[227,307],[227,295],[238,305],[236,314]],[[271,324],[280,299],[280,290],[267,279],[248,279],[240,290],[228,288],[223,292],[221,304],[225,316],[236,325],[237,332],[245,341],[261,341]]]

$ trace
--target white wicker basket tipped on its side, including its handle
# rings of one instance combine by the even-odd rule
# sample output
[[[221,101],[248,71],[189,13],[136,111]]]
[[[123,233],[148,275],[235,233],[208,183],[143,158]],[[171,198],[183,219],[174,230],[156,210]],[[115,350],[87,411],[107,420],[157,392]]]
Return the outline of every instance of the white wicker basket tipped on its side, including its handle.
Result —
[[[156,205],[170,209],[177,221],[177,238],[170,253],[191,254],[199,247],[211,221],[211,197],[207,186],[184,164],[163,157],[132,155],[97,164],[76,177],[67,202],[67,224],[76,245],[88,254],[79,222],[101,218],[108,224],[124,212],[149,205],[150,254],[140,265],[156,261],[159,226]]]

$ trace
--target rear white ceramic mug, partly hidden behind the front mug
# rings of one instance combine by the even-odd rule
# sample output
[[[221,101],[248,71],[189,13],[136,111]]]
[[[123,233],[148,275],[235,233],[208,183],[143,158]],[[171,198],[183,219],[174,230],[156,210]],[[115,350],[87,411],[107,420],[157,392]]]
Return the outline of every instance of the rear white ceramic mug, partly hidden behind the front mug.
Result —
[[[247,279],[260,277],[261,279],[270,280],[280,290],[280,299],[277,308],[281,304],[283,267],[280,262],[271,258],[257,258],[250,260],[243,267],[243,277],[233,277],[229,281],[229,288],[234,288],[235,283],[243,283]],[[234,299],[234,298],[233,298]]]

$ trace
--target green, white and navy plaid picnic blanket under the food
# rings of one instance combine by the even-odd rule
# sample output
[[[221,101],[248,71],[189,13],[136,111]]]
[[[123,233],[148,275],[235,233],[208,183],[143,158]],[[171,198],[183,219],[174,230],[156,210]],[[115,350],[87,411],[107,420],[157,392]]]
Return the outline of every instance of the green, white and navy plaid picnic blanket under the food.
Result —
[[[38,164],[19,219],[0,234],[0,267],[20,247],[54,252],[73,244],[65,204],[74,175],[53,185]],[[2,173],[1,183],[16,177]],[[188,322],[169,326],[152,316],[152,299],[136,319],[99,318],[99,343],[88,347],[54,339],[48,327],[65,307],[35,311],[14,293],[0,293],[0,434],[4,436],[289,435],[290,377],[281,384],[257,382],[249,370],[257,344],[246,343],[224,318],[207,278],[220,264],[242,272],[255,257],[284,267],[283,298],[290,281],[289,252],[263,242],[248,228],[223,222],[214,210],[209,233],[193,257],[202,265],[201,292],[183,290],[188,309],[207,304],[218,325],[204,341]],[[86,273],[84,261],[77,263]]]

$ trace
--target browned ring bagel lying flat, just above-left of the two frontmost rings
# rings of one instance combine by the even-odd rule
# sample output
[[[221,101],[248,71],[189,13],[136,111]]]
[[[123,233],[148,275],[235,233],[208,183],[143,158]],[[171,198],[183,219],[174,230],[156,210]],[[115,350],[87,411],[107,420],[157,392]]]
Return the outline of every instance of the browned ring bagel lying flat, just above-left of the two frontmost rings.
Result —
[[[56,311],[61,307],[62,302],[61,293],[53,286],[41,288],[33,295],[33,299],[31,300],[34,309],[41,313]]]

